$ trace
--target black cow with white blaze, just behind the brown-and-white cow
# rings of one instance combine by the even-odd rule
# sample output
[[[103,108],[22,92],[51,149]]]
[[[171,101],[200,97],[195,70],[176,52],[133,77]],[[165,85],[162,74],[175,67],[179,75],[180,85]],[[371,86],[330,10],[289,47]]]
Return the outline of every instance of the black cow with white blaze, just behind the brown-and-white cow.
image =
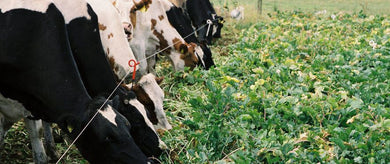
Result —
[[[191,25],[191,20],[187,14],[184,13],[182,8],[172,6],[167,12],[168,20],[173,27],[180,33],[187,43],[196,43],[195,47],[196,55],[198,56],[199,63],[203,68],[208,70],[214,65],[211,50],[207,44],[200,43],[195,36],[194,29]]]

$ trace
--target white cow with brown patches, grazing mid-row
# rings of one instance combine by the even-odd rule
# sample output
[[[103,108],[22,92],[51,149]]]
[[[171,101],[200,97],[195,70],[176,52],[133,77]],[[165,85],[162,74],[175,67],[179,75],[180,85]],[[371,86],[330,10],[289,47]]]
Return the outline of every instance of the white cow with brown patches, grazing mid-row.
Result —
[[[134,36],[130,46],[140,61],[140,72],[154,73],[157,51],[168,56],[174,70],[183,70],[185,66],[194,68],[198,63],[194,43],[188,44],[169,24],[166,11],[172,6],[167,0],[143,0],[146,11],[139,10],[138,3],[132,4],[130,18],[134,26]],[[172,46],[171,46],[172,45]],[[147,63],[145,60],[147,59]]]

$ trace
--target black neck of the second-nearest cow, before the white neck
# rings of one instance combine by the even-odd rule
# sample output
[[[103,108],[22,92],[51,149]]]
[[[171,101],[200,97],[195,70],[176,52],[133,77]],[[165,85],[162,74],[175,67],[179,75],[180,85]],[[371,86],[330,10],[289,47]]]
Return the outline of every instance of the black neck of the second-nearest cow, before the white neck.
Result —
[[[91,20],[76,18],[66,27],[72,53],[84,85],[88,93],[96,97],[101,93],[111,93],[117,86],[117,78],[110,68],[100,36],[97,34],[97,16],[90,6],[88,6],[88,11]]]

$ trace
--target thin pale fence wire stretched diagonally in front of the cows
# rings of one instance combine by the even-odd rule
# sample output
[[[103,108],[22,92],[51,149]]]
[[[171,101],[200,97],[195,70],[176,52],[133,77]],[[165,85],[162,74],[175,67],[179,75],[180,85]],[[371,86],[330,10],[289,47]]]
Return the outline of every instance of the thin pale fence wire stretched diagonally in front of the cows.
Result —
[[[204,28],[205,26],[207,26],[208,24],[204,24],[202,25],[201,27],[199,27],[198,29],[194,30],[194,32],[192,32],[191,34],[183,37],[183,40],[185,40],[186,38],[190,37],[191,35],[195,34],[197,31],[201,30],[202,28]],[[175,45],[176,43],[179,43],[179,41],[173,43],[172,45],[169,45],[165,48],[163,48],[162,50],[154,53],[153,55],[150,55],[148,57],[146,57],[145,59],[142,59],[142,60],[139,60],[138,62],[141,62],[141,61],[145,61],[151,57],[154,57],[156,56],[157,54],[167,50],[168,48],[172,47],[173,45]],[[111,92],[111,94],[107,97],[107,99],[104,101],[104,103],[100,106],[100,108],[96,111],[96,113],[92,116],[92,118],[88,121],[88,123],[85,125],[85,127],[80,131],[80,133],[77,135],[77,137],[73,140],[73,142],[68,146],[68,148],[65,150],[65,152],[61,155],[61,157],[58,159],[58,161],[56,162],[56,164],[58,164],[62,158],[65,157],[65,155],[68,153],[68,151],[70,150],[70,148],[76,143],[76,141],[80,138],[80,136],[83,134],[83,132],[87,129],[87,127],[89,126],[89,124],[91,124],[91,122],[93,121],[93,119],[97,116],[97,114],[99,113],[99,111],[104,107],[104,105],[106,105],[106,103],[110,100],[110,98],[112,97],[112,95],[115,93],[115,91],[119,88],[119,86],[125,81],[126,77],[130,74],[130,71],[126,73],[126,75],[122,78],[122,80],[118,83],[118,85],[115,87],[115,89]]]

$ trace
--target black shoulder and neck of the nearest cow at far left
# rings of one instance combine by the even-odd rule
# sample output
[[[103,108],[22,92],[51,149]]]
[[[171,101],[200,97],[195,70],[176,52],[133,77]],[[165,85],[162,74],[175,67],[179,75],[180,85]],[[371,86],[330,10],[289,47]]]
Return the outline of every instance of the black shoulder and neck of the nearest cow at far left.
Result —
[[[48,122],[58,120],[52,111],[81,110],[70,106],[85,100],[66,95],[88,97],[60,11],[53,4],[46,13],[14,9],[1,13],[0,22],[1,93]]]

